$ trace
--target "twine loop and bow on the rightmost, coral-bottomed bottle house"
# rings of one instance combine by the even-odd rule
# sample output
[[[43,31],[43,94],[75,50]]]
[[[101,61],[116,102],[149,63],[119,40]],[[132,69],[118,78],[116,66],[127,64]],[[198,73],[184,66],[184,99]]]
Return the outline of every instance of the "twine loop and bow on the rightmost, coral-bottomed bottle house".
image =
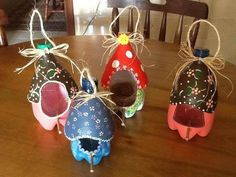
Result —
[[[192,51],[192,48],[191,48],[191,43],[190,43],[190,32],[191,32],[192,28],[194,27],[194,25],[196,25],[197,23],[200,23],[200,22],[207,23],[216,32],[218,45],[217,45],[217,50],[216,50],[216,53],[215,53],[214,56],[208,56],[208,57],[205,57],[205,58],[201,58],[201,57],[196,57],[193,54],[193,51]],[[219,35],[219,32],[218,32],[217,28],[212,23],[210,23],[209,21],[207,21],[207,20],[197,20],[194,23],[192,23],[192,25],[189,27],[188,32],[187,32],[187,44],[186,43],[181,44],[180,51],[178,53],[180,58],[185,63],[178,69],[178,71],[176,73],[176,77],[175,77],[174,82],[173,82],[173,86],[174,86],[175,89],[177,89],[177,81],[179,79],[179,76],[180,76],[181,72],[185,69],[185,67],[188,66],[189,64],[191,64],[194,61],[201,61],[213,73],[214,78],[215,78],[215,87],[217,87],[217,85],[218,85],[218,80],[217,80],[217,77],[216,77],[216,73],[217,73],[220,76],[222,76],[224,79],[226,79],[231,85],[231,90],[228,93],[227,97],[229,97],[232,94],[232,92],[234,90],[234,85],[233,85],[232,81],[227,76],[225,76],[224,74],[222,74],[220,72],[221,70],[223,70],[225,68],[225,59],[219,55],[220,41],[221,41],[220,40],[220,35]],[[216,89],[215,89],[215,91],[216,91]]]

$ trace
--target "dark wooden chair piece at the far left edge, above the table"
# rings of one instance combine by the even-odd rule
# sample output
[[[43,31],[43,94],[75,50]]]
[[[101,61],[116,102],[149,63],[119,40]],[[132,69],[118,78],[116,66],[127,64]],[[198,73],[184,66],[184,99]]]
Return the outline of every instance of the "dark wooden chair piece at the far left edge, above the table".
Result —
[[[0,46],[7,46],[7,37],[4,26],[8,24],[8,17],[6,13],[0,9]]]

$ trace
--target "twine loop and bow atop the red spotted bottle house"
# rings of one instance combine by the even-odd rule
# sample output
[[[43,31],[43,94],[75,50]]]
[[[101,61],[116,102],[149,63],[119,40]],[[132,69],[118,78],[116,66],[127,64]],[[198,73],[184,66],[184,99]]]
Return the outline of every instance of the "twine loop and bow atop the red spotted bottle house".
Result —
[[[111,24],[109,26],[109,34],[104,37],[105,41],[102,44],[102,47],[106,48],[106,50],[105,50],[105,52],[104,52],[104,54],[102,56],[101,65],[103,63],[104,57],[106,55],[110,56],[111,53],[120,44],[119,37],[112,32],[112,25],[124,13],[124,11],[126,11],[129,8],[135,9],[137,11],[138,17],[137,17],[137,21],[136,21],[136,24],[135,24],[134,32],[126,35],[128,37],[128,41],[134,46],[135,51],[136,51],[137,54],[139,53],[139,51],[138,51],[138,45],[139,44],[142,46],[141,47],[141,52],[142,52],[143,47],[144,47],[150,53],[148,48],[144,45],[144,37],[143,37],[143,35],[140,32],[138,32],[138,26],[139,26],[139,23],[140,23],[140,12],[139,12],[139,9],[136,6],[134,6],[134,5],[129,5],[129,6],[126,6],[124,9],[122,9],[122,11],[116,16],[116,18],[111,22]],[[126,32],[122,32],[122,33],[125,34]]]

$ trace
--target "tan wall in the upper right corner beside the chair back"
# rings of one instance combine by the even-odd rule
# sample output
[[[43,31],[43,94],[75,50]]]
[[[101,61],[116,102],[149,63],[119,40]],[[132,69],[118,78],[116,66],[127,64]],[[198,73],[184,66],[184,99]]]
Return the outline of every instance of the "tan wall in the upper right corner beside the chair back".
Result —
[[[236,64],[236,5],[235,0],[202,0],[209,5],[209,21],[218,29],[221,37],[221,54]],[[198,45],[206,46],[212,53],[217,47],[215,32],[203,26]]]

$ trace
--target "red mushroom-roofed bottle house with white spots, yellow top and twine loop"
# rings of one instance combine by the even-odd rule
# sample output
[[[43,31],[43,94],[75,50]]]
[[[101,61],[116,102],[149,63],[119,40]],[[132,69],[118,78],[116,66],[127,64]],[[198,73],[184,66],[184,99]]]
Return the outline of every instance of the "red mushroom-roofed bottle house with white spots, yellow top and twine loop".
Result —
[[[128,8],[135,8],[138,12],[138,20],[135,32],[132,34],[119,33],[115,36],[111,32],[111,27],[117,18]],[[148,78],[144,67],[139,60],[133,46],[144,45],[143,36],[137,32],[139,24],[139,10],[136,6],[128,6],[110,24],[110,38],[106,39],[104,47],[113,55],[108,60],[101,83],[106,89],[114,93],[111,98],[120,107],[123,116],[133,117],[136,111],[142,109],[144,105],[144,88],[148,85]],[[112,47],[110,46],[111,43]]]

